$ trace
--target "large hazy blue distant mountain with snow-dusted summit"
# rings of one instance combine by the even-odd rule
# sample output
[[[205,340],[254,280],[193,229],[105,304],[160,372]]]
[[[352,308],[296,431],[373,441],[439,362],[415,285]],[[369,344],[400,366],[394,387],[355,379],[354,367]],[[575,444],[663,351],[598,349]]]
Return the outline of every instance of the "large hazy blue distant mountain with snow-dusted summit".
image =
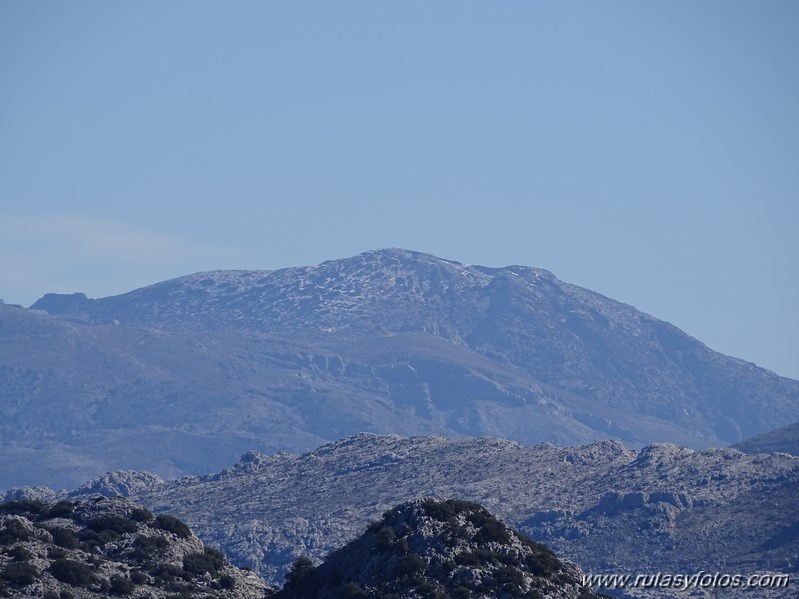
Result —
[[[0,305],[0,392],[0,487],[359,431],[702,447],[799,419],[799,382],[630,306],[405,250]]]

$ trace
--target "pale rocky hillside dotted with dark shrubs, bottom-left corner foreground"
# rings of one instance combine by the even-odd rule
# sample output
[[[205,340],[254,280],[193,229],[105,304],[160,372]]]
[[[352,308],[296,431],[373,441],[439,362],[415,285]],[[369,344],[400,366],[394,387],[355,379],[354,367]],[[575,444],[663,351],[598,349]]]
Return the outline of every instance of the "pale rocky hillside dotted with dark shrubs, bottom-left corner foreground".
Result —
[[[0,596],[262,599],[266,587],[172,516],[124,499],[0,504]]]

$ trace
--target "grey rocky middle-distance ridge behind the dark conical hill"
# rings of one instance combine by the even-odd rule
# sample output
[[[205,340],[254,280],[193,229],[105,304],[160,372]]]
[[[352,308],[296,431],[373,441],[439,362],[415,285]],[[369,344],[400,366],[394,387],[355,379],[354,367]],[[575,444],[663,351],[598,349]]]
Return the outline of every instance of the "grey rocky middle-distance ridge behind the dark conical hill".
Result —
[[[280,582],[298,556],[320,559],[427,496],[478,502],[590,573],[795,573],[798,491],[786,454],[363,434],[300,457],[251,452],[135,497]]]

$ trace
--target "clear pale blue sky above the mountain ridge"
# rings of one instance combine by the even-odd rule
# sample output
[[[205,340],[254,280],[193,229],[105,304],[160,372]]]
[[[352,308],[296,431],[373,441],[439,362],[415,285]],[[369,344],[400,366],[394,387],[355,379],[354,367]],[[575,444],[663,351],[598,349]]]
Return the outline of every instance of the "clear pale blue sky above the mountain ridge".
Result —
[[[0,297],[380,247],[799,378],[799,2],[0,3]]]

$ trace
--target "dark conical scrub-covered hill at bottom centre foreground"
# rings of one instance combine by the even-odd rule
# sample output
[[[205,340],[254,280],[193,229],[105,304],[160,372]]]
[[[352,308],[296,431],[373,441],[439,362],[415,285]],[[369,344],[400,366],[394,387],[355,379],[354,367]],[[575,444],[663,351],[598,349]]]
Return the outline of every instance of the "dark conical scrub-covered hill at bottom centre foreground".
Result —
[[[583,573],[465,501],[420,499],[383,514],[314,568],[295,562],[276,599],[594,599]]]

